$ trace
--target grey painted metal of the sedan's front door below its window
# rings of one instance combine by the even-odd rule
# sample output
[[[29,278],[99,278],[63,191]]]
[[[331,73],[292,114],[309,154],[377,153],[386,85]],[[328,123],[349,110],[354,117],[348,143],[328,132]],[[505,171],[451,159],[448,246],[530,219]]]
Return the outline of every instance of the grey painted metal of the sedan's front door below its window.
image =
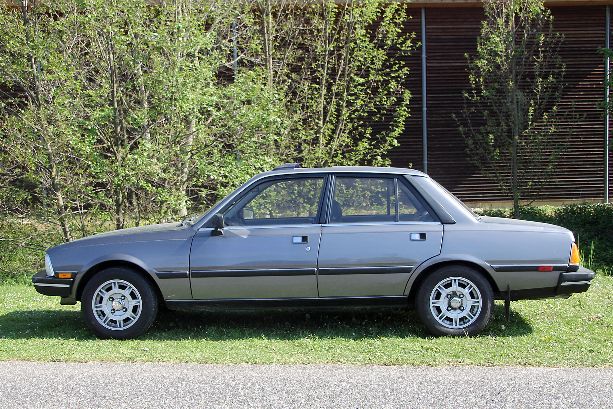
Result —
[[[320,225],[228,227],[223,236],[211,236],[211,230],[202,229],[194,236],[192,271],[259,270],[261,275],[194,278],[192,274],[194,298],[318,296],[317,276],[284,276],[278,270],[317,267]],[[307,236],[308,243],[293,243],[294,236]]]

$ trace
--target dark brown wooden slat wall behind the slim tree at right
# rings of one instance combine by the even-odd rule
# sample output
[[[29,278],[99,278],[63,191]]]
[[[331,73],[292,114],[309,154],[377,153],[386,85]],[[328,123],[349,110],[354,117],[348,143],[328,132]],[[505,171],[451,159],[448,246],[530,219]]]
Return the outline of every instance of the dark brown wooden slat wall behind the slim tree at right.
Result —
[[[552,7],[554,29],[564,34],[560,50],[566,64],[563,107],[573,107],[581,117],[573,123],[573,136],[558,167],[554,183],[541,200],[598,200],[604,197],[604,120],[598,103],[603,99],[604,6]],[[463,105],[467,90],[468,63],[465,53],[474,54],[482,9],[427,8],[428,83],[428,173],[465,201],[509,200],[497,185],[466,160],[466,145],[452,114]],[[415,14],[414,21],[419,21]],[[421,35],[416,25],[417,38]],[[411,59],[419,60],[419,52]],[[411,76],[421,79],[421,69]],[[415,88],[413,88],[415,87]],[[413,163],[422,169],[421,83],[411,84],[412,117],[400,139],[401,146],[389,157],[393,166]],[[613,166],[611,166],[613,173]],[[613,189],[612,189],[613,192]]]

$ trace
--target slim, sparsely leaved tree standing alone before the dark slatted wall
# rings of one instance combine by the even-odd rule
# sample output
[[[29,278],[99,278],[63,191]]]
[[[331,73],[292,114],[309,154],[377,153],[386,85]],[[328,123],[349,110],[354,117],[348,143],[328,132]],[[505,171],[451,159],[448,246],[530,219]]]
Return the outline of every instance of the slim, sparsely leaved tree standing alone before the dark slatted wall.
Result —
[[[469,61],[460,131],[470,161],[513,202],[533,201],[568,141],[561,132],[562,36],[542,0],[486,0],[486,20]]]

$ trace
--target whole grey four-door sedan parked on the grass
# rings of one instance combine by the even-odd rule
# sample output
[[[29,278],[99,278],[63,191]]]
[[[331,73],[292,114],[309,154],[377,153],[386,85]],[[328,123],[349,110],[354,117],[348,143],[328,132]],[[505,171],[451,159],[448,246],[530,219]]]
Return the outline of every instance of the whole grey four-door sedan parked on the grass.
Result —
[[[170,310],[407,306],[435,335],[475,335],[494,300],[568,297],[593,271],[573,233],[479,217],[412,169],[279,166],[202,216],[47,250],[38,292],[81,302],[101,338]],[[508,310],[507,310],[508,311]]]

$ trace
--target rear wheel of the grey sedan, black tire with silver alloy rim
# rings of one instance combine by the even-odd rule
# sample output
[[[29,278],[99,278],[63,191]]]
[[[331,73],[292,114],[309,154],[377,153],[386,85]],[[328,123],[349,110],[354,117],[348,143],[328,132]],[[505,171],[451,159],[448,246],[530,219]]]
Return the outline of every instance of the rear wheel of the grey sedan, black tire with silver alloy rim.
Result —
[[[415,298],[417,315],[433,335],[477,335],[493,313],[492,286],[474,268],[447,265],[424,279]]]

